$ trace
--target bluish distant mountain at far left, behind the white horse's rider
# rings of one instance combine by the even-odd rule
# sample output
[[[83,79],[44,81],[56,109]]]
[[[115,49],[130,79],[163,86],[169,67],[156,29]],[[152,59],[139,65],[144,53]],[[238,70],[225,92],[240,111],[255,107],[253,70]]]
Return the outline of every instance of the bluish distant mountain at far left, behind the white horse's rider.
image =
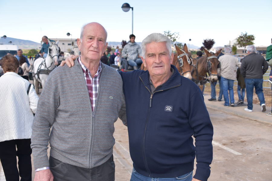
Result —
[[[1,38],[0,44],[9,44],[8,42],[10,41],[11,45],[17,45],[19,49],[40,49],[40,43],[10,37],[7,37],[6,39]]]

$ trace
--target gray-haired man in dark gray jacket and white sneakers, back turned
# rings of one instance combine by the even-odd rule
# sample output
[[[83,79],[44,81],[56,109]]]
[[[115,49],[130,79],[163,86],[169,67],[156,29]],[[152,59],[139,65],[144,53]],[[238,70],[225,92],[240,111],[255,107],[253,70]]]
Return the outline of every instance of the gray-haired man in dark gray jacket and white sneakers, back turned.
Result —
[[[247,56],[244,57],[241,65],[241,74],[245,78],[248,107],[247,112],[252,112],[253,88],[260,100],[262,112],[266,111],[263,93],[263,75],[268,69],[268,63],[262,55],[256,53],[254,45],[247,47]]]

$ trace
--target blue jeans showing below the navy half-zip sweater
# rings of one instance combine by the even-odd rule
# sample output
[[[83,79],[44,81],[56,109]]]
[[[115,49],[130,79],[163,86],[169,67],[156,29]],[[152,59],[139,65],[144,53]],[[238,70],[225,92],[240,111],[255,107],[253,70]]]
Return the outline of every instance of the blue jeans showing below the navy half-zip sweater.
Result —
[[[191,181],[192,179],[193,171],[173,178],[152,178],[141,175],[140,173],[136,172],[136,170],[133,168],[130,181],[173,181],[173,180]]]

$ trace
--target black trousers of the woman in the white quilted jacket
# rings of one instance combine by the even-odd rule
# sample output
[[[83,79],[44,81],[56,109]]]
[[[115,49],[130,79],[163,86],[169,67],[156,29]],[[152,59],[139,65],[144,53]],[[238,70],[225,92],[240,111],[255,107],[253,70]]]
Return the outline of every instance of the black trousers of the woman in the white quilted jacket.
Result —
[[[16,139],[0,142],[0,159],[6,181],[31,181],[31,153],[30,139]],[[17,147],[17,151],[16,151]],[[18,156],[18,167],[17,159]]]

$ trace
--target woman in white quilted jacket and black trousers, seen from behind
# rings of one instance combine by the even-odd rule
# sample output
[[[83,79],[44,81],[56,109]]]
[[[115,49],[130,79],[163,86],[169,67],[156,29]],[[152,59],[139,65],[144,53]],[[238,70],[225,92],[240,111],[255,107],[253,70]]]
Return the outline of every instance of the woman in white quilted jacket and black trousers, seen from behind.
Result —
[[[14,56],[3,56],[1,65],[4,71],[4,75],[0,77],[2,167],[6,180],[19,180],[19,175],[21,180],[31,180],[30,138],[38,96],[33,85],[17,74],[19,62]],[[16,156],[18,156],[19,172]]]

